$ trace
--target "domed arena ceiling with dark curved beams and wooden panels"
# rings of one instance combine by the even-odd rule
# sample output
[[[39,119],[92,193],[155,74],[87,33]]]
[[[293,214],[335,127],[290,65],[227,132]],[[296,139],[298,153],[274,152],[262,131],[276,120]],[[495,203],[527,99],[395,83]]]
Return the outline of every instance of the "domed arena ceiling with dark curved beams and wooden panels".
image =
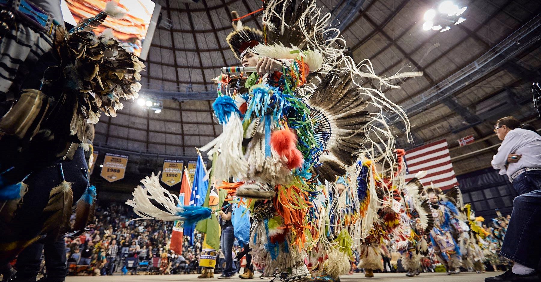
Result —
[[[400,89],[386,91],[404,107],[412,125],[413,143],[403,124],[393,123],[400,147],[410,148],[445,138],[454,170],[466,173],[490,166],[499,140],[492,129],[499,117],[513,115],[532,122],[535,111],[530,85],[541,68],[541,2],[529,0],[466,0],[466,21],[445,32],[425,31],[423,14],[440,1],[320,0],[337,16],[353,58],[370,59],[378,75],[423,71]],[[246,15],[259,0],[157,0],[161,19],[143,73],[142,96],[163,99],[160,113],[125,103],[114,118],[96,125],[96,147],[149,155],[194,156],[195,147],[221,133],[212,116],[215,86],[211,79],[222,66],[238,65],[225,37],[231,11]],[[360,7],[360,9],[358,9]],[[344,13],[344,11],[346,13]],[[243,23],[261,28],[258,14]],[[335,21],[338,23],[339,21]],[[366,82],[370,83],[370,82]],[[476,141],[459,147],[457,139]]]

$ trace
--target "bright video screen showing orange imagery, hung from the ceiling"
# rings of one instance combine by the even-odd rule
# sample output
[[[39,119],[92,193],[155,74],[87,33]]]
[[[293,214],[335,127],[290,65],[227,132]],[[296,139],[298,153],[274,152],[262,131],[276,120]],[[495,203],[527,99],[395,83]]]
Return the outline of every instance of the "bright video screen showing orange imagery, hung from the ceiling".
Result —
[[[81,19],[93,17],[105,9],[105,3],[110,0],[64,0],[75,19],[76,25]],[[94,29],[100,34],[104,29],[113,29],[113,35],[119,41],[127,43],[133,53],[145,59],[150,47],[150,41],[156,27],[160,5],[151,0],[113,0],[126,11],[121,19],[107,17],[103,24]],[[68,19],[65,21],[69,22]]]

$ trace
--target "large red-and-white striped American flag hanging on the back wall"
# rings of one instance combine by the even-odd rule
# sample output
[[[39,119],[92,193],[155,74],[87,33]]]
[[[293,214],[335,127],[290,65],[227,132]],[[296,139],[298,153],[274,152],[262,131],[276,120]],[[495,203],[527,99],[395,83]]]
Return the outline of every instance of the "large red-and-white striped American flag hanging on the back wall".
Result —
[[[445,139],[406,151],[405,158],[407,165],[406,182],[414,178],[415,173],[425,170],[427,174],[421,179],[423,185],[430,185],[432,182],[434,186],[439,187],[441,190],[458,185]]]

